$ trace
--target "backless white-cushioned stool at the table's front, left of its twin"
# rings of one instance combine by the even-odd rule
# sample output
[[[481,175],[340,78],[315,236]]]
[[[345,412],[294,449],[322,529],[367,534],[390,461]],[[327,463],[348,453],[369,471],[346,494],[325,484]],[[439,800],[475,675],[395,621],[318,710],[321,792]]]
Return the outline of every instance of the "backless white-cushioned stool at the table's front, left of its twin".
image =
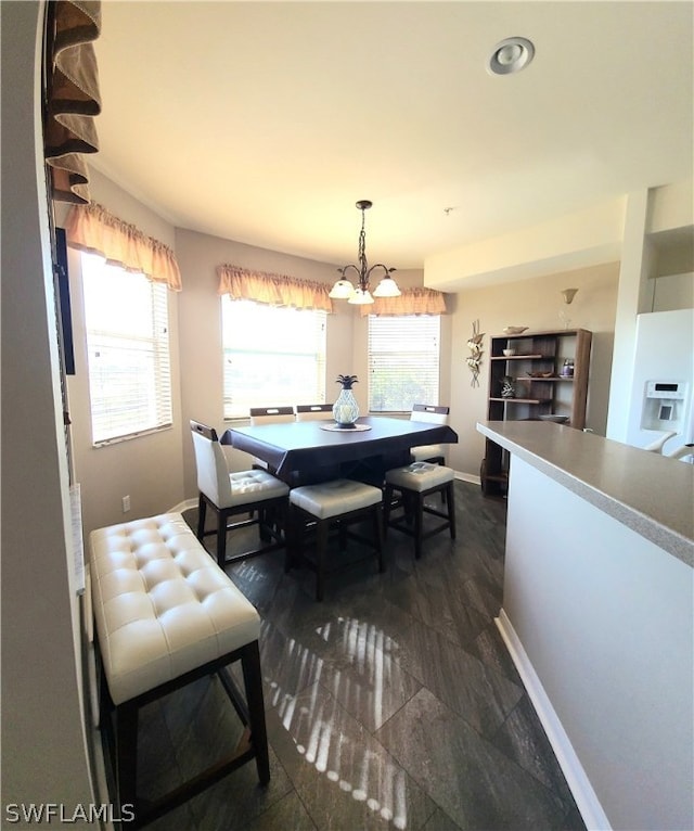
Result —
[[[303,551],[304,535],[308,527],[316,530],[316,562],[303,557],[304,562],[316,572],[316,600],[323,599],[325,588],[325,560],[327,554],[327,536],[331,526],[339,529],[340,548],[345,547],[347,538],[372,545],[377,560],[378,571],[385,571],[383,559],[383,493],[377,487],[364,485],[352,480],[332,480],[320,485],[303,485],[290,491],[290,533],[291,542],[287,546],[285,572],[288,572],[296,552]],[[373,538],[368,539],[347,526],[371,517]],[[365,558],[335,567],[331,573],[349,567]]]

